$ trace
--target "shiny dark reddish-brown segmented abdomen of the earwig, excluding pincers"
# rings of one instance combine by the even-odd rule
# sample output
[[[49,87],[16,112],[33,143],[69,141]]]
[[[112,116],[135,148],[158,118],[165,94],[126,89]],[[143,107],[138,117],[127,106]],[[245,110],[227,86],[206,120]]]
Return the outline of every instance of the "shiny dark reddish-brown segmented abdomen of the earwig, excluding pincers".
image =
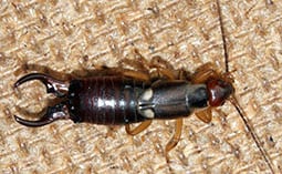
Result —
[[[121,76],[74,80],[70,84],[69,110],[75,122],[127,124],[144,121],[137,113],[143,83]]]

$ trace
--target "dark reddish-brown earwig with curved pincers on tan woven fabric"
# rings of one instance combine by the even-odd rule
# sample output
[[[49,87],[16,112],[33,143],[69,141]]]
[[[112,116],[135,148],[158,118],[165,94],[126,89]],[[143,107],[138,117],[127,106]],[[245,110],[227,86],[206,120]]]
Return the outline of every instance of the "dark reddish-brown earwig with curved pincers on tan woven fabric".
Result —
[[[45,85],[48,93],[61,98],[62,102],[49,106],[46,113],[38,121],[24,120],[17,115],[14,119],[27,126],[42,126],[62,119],[70,119],[75,123],[124,124],[126,132],[130,135],[147,129],[155,119],[175,119],[175,134],[165,147],[167,157],[168,152],[179,142],[184,117],[195,112],[201,121],[209,123],[212,108],[230,101],[274,173],[265,150],[261,147],[258,135],[252,131],[243,110],[234,98],[233,80],[227,64],[224,30],[221,17],[219,18],[226,58],[224,73],[217,72],[210,64],[200,66],[189,79],[185,79],[179,73],[178,80],[171,78],[173,72],[161,68],[158,68],[158,71],[165,78],[157,80],[149,76],[146,78],[147,80],[139,80],[140,74],[125,73],[64,82],[46,74],[31,73],[19,79],[14,88],[39,80]],[[139,122],[140,124],[135,129],[129,126],[132,123]]]

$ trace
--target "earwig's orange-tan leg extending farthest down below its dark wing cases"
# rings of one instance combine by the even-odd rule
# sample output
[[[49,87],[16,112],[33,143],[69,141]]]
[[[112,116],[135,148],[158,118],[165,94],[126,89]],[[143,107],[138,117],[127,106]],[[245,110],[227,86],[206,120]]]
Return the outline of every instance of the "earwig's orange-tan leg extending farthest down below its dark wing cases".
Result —
[[[165,149],[165,155],[166,155],[167,162],[168,162],[168,152],[170,150],[173,150],[180,140],[181,131],[182,131],[182,124],[184,124],[182,119],[177,119],[176,120],[175,134],[173,135],[170,141],[167,143],[166,149]]]

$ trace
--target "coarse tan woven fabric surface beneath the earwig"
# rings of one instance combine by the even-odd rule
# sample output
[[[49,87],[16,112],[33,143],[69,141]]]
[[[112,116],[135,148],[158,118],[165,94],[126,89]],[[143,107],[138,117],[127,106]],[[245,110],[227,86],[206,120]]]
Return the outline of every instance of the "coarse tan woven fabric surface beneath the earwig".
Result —
[[[278,172],[282,1],[220,0],[220,4],[230,70],[237,70],[237,96]],[[123,126],[60,121],[30,129],[14,122],[17,106],[35,113],[50,99],[36,82],[18,93],[12,89],[17,79],[32,72],[30,64],[46,66],[52,75],[86,72],[134,59],[134,48],[148,60],[160,55],[175,69],[192,72],[213,62],[223,71],[216,1],[0,1],[0,173],[270,172],[230,103],[213,113],[210,124],[194,115],[186,119],[169,164],[163,150],[173,121],[155,121],[134,137]]]

